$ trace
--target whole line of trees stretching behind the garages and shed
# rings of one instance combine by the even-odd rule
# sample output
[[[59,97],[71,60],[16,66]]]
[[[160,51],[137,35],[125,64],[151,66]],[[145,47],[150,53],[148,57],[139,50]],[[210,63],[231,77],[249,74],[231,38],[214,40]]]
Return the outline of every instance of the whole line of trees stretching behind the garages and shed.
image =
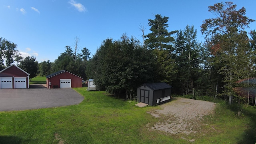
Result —
[[[148,20],[149,34],[144,34],[144,27],[140,27],[143,42],[126,34],[120,40],[107,38],[90,58],[90,51],[81,49],[76,37],[73,48],[66,46],[54,62],[39,63],[36,74],[46,76],[68,70],[84,80],[93,78],[101,90],[126,99],[135,98],[136,88],[143,83],[166,82],[173,86],[174,94],[207,95],[230,104],[252,103],[256,31],[247,33],[246,28],[255,20],[245,16],[244,7],[236,10],[233,2],[216,3],[208,11],[216,18],[206,19],[201,25],[204,43],[197,39],[193,25],[169,31],[168,17],[156,14]],[[13,63],[12,58],[24,65],[16,45],[0,40],[0,66],[4,66],[3,59],[6,66]],[[36,61],[33,58],[28,59]]]

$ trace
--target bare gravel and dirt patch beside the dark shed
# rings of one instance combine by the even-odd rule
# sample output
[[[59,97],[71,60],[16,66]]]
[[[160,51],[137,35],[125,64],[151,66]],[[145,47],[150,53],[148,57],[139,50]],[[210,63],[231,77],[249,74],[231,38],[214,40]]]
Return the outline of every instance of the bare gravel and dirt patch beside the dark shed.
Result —
[[[203,116],[212,114],[216,104],[188,98],[173,98],[171,102],[160,105],[161,110],[148,112],[160,118],[159,122],[150,126],[151,129],[161,130],[170,134],[197,133]],[[149,126],[150,124],[148,124]]]

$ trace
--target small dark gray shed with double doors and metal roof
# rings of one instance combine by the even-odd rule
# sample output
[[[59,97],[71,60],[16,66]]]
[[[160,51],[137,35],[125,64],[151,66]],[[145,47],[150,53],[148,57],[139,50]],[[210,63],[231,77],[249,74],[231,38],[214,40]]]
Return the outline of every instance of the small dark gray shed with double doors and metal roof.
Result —
[[[172,86],[164,83],[146,83],[137,88],[138,102],[143,102],[150,106],[169,102],[171,99]]]

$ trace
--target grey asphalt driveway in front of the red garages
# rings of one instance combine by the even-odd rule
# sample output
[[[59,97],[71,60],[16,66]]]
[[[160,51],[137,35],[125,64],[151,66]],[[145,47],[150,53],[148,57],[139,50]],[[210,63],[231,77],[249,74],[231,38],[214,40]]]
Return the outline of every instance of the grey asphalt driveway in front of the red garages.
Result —
[[[83,100],[72,88],[0,89],[0,111],[69,106]]]

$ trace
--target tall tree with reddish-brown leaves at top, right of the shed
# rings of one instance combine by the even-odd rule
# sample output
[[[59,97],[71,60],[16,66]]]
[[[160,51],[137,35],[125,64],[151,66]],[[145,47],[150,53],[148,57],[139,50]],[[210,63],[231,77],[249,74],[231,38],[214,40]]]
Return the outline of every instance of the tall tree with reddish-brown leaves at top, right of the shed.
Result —
[[[206,34],[206,42],[217,62],[223,64],[219,69],[219,73],[224,75],[223,94],[229,96],[228,101],[231,104],[232,96],[236,96],[233,90],[236,81],[249,76],[252,55],[245,28],[255,20],[244,16],[244,7],[236,10],[233,2],[221,2],[208,8],[217,17],[204,20],[201,32]]]

